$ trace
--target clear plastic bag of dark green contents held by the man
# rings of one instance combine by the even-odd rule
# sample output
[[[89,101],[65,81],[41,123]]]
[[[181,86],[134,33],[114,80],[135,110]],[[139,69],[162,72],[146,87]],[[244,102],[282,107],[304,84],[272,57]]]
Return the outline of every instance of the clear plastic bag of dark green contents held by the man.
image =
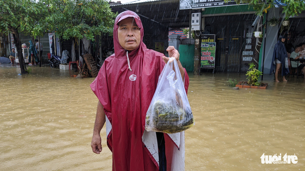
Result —
[[[163,133],[179,133],[195,125],[175,58],[167,62],[159,76],[145,121],[147,131]]]

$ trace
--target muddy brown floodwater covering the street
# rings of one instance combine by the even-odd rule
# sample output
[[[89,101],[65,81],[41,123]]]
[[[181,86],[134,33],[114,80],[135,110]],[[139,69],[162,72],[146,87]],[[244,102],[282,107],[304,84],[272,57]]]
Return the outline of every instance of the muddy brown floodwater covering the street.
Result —
[[[31,67],[31,74],[0,65],[0,170],[110,171],[112,156],[91,151],[97,98],[94,78],[73,71]],[[266,90],[228,87],[244,74],[190,76],[188,98],[196,125],[185,131],[185,170],[303,170],[305,81],[275,83]],[[295,155],[296,164],[262,164],[264,155]],[[281,158],[281,161],[284,161]]]

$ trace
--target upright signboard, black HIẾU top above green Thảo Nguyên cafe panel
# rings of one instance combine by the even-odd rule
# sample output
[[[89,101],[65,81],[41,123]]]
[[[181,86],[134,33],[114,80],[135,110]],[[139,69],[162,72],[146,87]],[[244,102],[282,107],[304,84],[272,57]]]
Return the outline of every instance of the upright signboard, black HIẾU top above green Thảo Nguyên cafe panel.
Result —
[[[201,68],[215,68],[216,42],[215,34],[201,37]]]

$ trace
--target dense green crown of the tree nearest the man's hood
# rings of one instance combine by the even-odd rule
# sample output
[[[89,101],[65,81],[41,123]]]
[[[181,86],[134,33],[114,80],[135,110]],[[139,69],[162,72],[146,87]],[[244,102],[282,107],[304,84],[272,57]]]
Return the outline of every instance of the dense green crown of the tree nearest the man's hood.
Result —
[[[105,0],[48,0],[50,16],[45,23],[49,31],[63,39],[87,38],[112,34],[116,14]]]

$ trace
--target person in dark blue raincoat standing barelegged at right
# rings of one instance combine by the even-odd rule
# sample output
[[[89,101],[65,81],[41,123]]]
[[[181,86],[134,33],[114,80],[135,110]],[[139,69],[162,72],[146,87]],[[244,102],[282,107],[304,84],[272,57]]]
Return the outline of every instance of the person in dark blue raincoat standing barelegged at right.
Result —
[[[285,36],[281,36],[278,42],[274,46],[272,62],[270,67],[270,75],[275,74],[275,81],[280,82],[278,79],[279,70],[282,71],[283,81],[287,81],[285,79],[285,75],[289,74],[288,67],[288,56],[285,48]],[[274,72],[275,70],[275,72]]]

